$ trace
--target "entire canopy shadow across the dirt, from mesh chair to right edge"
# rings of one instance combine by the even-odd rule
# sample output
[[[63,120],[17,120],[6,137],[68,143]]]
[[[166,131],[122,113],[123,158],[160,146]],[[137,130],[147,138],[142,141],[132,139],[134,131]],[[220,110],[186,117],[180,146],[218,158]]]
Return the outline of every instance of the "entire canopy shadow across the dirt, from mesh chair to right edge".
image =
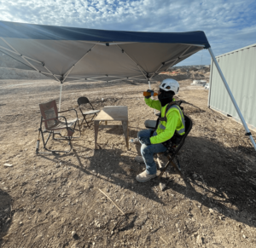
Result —
[[[75,149],[76,146],[78,150]],[[136,146],[139,153],[140,145]],[[119,148],[109,147],[108,144],[101,144],[101,147],[102,149],[97,150],[86,147],[81,149],[81,146],[74,144],[74,157],[64,154],[55,159],[47,156],[44,158],[63,162],[64,165],[68,164],[85,175],[102,179],[105,184],[119,185],[123,189],[142,195],[145,199],[166,205],[160,193],[154,190],[155,187],[159,188],[159,183],[165,181],[165,178],[161,178],[161,181],[155,178],[139,183],[135,177],[144,170],[144,164],[137,164]],[[89,151],[92,153],[90,156],[84,155]],[[72,156],[76,162],[61,160],[68,156]],[[188,136],[180,151],[179,160],[185,183],[172,178],[166,187],[167,193],[183,194],[186,198],[207,207],[207,213],[211,208],[216,215],[227,216],[237,222],[256,227],[256,214],[253,211],[255,186],[247,180],[253,176],[256,178],[256,173],[252,168],[248,168],[233,150],[216,141]],[[173,173],[172,168],[167,171]]]

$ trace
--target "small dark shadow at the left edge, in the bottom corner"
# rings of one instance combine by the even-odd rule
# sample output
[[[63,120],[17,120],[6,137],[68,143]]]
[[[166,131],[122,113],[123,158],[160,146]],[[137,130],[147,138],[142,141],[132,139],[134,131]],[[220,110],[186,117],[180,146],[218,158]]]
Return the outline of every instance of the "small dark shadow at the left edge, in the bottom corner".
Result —
[[[8,239],[8,231],[12,224],[14,212],[11,209],[13,199],[3,189],[0,188],[0,246]]]

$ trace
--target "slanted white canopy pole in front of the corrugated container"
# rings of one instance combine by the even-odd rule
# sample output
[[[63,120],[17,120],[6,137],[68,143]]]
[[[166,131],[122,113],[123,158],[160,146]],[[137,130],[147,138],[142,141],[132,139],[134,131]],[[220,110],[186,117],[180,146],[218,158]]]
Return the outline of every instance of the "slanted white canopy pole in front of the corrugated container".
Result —
[[[232,92],[230,90],[229,84],[227,83],[226,79],[224,78],[224,74],[222,73],[220,67],[218,66],[218,62],[216,61],[215,56],[212,53],[212,49],[208,48],[208,51],[209,51],[210,55],[212,56],[212,61],[214,62],[214,65],[216,66],[216,68],[218,70],[218,74],[219,74],[220,78],[222,79],[222,81],[224,83],[224,86],[225,86],[225,88],[227,89],[227,91],[228,91],[228,93],[230,95],[230,99],[233,102],[234,107],[236,108],[236,112],[238,113],[239,118],[241,119],[241,123],[243,124],[243,127],[246,130],[246,132],[247,132],[246,136],[249,136],[250,140],[253,143],[253,147],[254,147],[254,149],[256,151],[256,144],[255,144],[255,141],[253,140],[253,136],[252,136],[250,130],[248,129],[248,127],[247,127],[247,123],[246,123],[245,119],[243,118],[238,105],[236,104],[236,100],[235,100],[235,98],[234,98],[234,96],[233,96],[233,94],[232,94]]]

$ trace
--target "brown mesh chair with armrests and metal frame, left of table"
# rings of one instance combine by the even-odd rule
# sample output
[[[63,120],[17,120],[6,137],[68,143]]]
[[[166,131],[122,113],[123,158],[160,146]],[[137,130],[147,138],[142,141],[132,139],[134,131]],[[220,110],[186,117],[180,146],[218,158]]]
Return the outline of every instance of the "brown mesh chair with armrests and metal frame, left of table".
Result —
[[[41,133],[42,140],[44,143],[44,149],[51,152],[51,153],[69,153],[72,149],[72,138],[79,138],[81,136],[81,130],[79,125],[79,117],[78,113],[75,109],[68,109],[65,111],[58,112],[57,111],[57,105],[56,101],[49,101],[44,104],[39,104],[40,112],[41,112],[41,123],[39,128],[39,134],[38,134],[38,141],[39,136]],[[64,116],[58,116],[59,113],[62,112],[69,112],[74,111],[76,113],[76,118],[73,120],[67,121],[67,118]],[[44,124],[45,130],[42,129],[42,125]],[[79,136],[74,137],[73,133],[75,132],[76,125],[79,125]],[[61,130],[67,130],[67,136],[61,135]],[[49,136],[47,137],[46,141],[44,141],[44,134],[49,133]],[[68,151],[57,151],[57,150],[51,150],[46,147],[47,142],[49,141],[49,137],[52,135],[53,140],[67,140],[68,145],[70,146],[70,149]],[[55,135],[61,136],[61,138],[55,138]],[[36,153],[39,153],[39,142],[37,144],[37,150]]]

